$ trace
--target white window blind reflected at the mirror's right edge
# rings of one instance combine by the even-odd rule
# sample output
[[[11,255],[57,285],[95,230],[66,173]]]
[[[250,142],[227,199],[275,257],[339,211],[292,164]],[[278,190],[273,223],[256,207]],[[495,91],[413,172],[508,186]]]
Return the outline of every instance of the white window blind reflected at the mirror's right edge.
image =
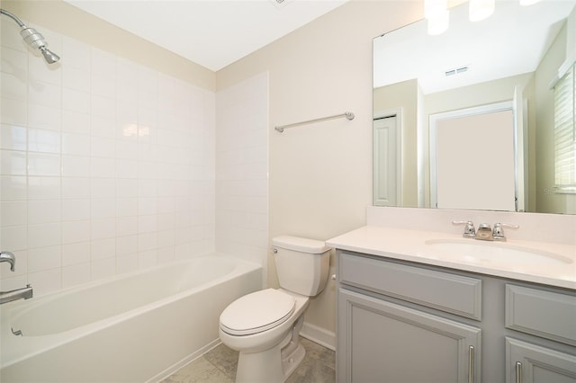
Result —
[[[554,173],[558,192],[576,192],[576,66],[554,86]]]

